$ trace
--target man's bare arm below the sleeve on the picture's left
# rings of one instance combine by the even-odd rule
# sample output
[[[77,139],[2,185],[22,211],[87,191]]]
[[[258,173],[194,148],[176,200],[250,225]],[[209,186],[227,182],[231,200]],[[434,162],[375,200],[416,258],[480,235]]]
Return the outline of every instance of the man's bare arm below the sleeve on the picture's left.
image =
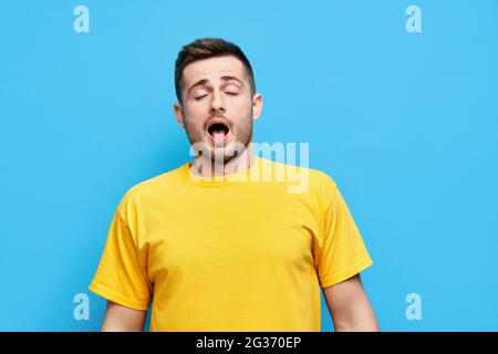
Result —
[[[134,310],[107,301],[102,332],[142,332],[147,311]]]

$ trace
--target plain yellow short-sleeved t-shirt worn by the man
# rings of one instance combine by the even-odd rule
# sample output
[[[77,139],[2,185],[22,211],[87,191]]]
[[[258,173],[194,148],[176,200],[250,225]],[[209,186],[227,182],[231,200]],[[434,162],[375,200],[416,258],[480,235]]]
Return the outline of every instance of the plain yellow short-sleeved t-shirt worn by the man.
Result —
[[[151,331],[320,331],[320,287],[372,260],[335,181],[290,168],[255,156],[219,180],[186,163],[135,185],[89,289],[132,309],[152,302]],[[299,174],[305,188],[292,190]]]

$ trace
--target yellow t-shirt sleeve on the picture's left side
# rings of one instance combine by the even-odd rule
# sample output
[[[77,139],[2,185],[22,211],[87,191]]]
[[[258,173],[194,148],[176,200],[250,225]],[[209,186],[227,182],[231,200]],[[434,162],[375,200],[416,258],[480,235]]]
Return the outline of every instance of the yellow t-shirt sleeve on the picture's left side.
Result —
[[[98,268],[89,289],[94,293],[135,310],[147,310],[152,284],[146,268],[138,261],[132,232],[115,211]]]

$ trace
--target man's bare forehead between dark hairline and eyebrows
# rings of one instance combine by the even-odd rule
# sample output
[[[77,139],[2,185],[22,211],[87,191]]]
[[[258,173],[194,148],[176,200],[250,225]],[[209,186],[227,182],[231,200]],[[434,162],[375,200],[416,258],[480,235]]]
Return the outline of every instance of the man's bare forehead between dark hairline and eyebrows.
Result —
[[[185,87],[188,88],[193,83],[201,79],[216,79],[227,74],[238,77],[240,81],[246,79],[246,69],[242,62],[235,56],[216,56],[203,59],[188,64],[184,69]]]

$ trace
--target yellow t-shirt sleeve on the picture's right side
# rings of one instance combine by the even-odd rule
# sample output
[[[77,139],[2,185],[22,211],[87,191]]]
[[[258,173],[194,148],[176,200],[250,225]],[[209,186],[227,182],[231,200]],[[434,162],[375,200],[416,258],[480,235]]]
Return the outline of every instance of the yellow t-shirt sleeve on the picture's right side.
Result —
[[[322,288],[340,283],[373,264],[356,223],[335,183],[332,200],[321,216],[314,261]]]

